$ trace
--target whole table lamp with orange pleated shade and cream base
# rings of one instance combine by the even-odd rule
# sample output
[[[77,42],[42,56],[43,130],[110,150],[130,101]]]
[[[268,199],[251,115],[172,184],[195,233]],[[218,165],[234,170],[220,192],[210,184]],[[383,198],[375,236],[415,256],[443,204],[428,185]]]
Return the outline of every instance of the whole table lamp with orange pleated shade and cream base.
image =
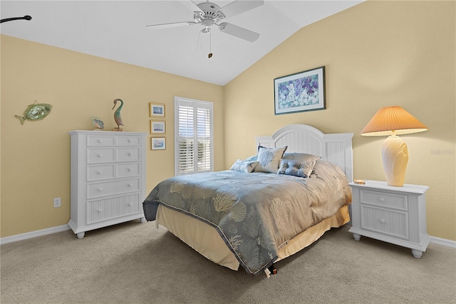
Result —
[[[388,136],[382,145],[383,169],[389,186],[404,185],[408,149],[399,134],[427,130],[417,118],[400,106],[380,108],[361,131],[362,136]]]

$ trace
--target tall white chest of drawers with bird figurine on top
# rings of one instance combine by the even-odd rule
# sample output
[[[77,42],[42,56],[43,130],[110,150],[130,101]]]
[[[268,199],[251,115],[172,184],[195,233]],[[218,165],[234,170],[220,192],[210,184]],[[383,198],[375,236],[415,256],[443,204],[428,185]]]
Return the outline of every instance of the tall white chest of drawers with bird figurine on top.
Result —
[[[71,227],[88,230],[145,221],[147,133],[71,131]]]

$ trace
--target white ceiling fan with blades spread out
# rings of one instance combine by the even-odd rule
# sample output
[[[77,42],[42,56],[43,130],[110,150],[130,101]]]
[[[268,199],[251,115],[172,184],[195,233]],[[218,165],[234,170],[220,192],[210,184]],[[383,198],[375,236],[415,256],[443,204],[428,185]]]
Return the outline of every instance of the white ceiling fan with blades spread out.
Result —
[[[193,20],[192,21],[181,21],[181,22],[172,22],[167,24],[150,24],[147,27],[150,29],[164,29],[169,27],[175,26],[187,26],[187,25],[195,25],[200,24],[203,26],[201,33],[209,33],[211,31],[212,26],[217,26],[220,31],[223,33],[235,36],[240,39],[244,39],[250,42],[254,42],[259,38],[259,34],[255,33],[254,31],[249,31],[248,29],[244,29],[240,26],[236,26],[234,24],[229,24],[224,22],[225,18],[229,18],[232,16],[236,16],[239,14],[244,13],[245,11],[249,11],[251,9],[255,9],[258,6],[264,4],[263,0],[255,0],[255,1],[243,1],[243,0],[236,0],[222,8],[217,4],[212,2],[202,2],[200,4],[195,4],[195,2],[191,1],[192,6],[197,11],[193,12]]]

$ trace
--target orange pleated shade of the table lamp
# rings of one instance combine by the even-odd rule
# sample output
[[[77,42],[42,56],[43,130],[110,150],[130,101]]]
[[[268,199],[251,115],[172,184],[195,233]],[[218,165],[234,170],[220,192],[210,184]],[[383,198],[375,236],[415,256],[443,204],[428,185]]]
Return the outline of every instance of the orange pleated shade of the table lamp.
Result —
[[[408,133],[418,133],[427,130],[412,114],[400,106],[380,108],[371,121],[363,128],[363,136],[388,136]]]

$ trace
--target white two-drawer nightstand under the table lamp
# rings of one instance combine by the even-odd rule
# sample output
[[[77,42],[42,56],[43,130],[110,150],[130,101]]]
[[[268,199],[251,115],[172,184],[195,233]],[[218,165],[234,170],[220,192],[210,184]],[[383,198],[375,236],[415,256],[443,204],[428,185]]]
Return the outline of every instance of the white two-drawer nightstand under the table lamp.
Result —
[[[421,258],[429,244],[426,227],[425,193],[429,187],[404,184],[388,186],[383,181],[349,183],[353,196],[350,230],[355,240],[361,235],[412,249]]]

